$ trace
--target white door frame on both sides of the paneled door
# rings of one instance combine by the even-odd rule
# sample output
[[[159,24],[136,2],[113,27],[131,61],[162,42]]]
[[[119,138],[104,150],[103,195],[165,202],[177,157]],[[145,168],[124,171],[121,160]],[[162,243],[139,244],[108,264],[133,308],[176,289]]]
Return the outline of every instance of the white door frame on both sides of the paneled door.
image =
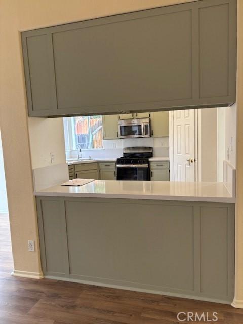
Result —
[[[199,178],[200,163],[198,163],[198,109],[194,109],[194,132],[195,132],[195,181]],[[175,181],[174,165],[174,110],[169,111],[169,158],[170,158],[170,181]]]

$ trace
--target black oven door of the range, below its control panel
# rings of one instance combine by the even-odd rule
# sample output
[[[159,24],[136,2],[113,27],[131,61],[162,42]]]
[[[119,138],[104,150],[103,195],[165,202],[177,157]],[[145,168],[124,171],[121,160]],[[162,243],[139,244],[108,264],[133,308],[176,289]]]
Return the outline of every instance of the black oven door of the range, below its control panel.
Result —
[[[145,165],[117,165],[117,180],[149,180],[149,167]]]

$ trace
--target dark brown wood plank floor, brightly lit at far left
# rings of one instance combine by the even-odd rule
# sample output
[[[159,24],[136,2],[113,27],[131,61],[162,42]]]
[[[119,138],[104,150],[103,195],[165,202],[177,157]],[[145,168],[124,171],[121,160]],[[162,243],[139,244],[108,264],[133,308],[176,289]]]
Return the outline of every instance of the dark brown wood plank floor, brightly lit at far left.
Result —
[[[175,324],[182,323],[178,312],[209,312],[209,319],[217,312],[219,324],[243,323],[243,310],[230,305],[16,278],[12,269],[8,217],[0,215],[0,324]]]

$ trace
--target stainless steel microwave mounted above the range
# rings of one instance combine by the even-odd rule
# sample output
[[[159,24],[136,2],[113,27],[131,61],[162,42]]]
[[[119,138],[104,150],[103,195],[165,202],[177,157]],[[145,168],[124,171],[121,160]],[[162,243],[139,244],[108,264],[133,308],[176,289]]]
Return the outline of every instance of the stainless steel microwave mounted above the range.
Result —
[[[119,138],[150,137],[150,119],[124,119],[118,121]]]

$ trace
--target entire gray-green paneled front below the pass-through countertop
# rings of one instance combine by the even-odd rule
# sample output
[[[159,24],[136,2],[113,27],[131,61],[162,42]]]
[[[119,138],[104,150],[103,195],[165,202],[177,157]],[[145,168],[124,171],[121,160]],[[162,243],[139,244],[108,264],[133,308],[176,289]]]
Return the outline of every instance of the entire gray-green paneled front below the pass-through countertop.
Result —
[[[43,271],[230,303],[234,204],[37,197]]]

